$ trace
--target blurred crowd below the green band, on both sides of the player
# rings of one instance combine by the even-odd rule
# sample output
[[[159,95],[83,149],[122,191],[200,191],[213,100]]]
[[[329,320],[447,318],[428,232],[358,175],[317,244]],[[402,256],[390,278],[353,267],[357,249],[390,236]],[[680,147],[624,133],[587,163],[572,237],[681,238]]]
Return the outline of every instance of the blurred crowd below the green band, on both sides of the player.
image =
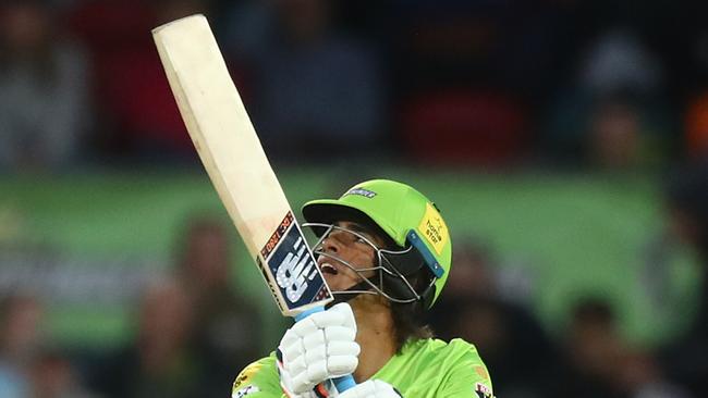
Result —
[[[708,163],[676,173],[664,187],[660,245],[695,250],[705,279]],[[27,291],[4,297],[0,397],[227,397],[235,374],[266,355],[260,312],[230,283],[234,264],[228,228],[210,215],[186,221],[173,266],[148,281],[132,306],[134,325],[122,347],[96,352],[57,345],[45,327],[48,303]],[[708,394],[708,289],[700,290],[689,326],[656,346],[631,343],[612,299],[597,294],[570,297],[567,321],[553,333],[532,307],[533,286],[499,266],[493,247],[466,236],[454,240],[452,275],[428,322],[438,337],[462,337],[477,347],[497,396]]]

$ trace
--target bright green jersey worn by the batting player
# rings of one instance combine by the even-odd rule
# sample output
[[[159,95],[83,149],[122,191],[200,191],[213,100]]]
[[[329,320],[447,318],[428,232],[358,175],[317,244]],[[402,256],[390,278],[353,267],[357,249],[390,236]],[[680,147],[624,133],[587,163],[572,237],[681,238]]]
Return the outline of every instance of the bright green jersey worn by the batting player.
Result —
[[[491,380],[475,346],[426,338],[407,343],[371,378],[395,387],[404,398],[491,398]],[[276,356],[244,369],[233,384],[233,398],[285,397],[280,387]]]

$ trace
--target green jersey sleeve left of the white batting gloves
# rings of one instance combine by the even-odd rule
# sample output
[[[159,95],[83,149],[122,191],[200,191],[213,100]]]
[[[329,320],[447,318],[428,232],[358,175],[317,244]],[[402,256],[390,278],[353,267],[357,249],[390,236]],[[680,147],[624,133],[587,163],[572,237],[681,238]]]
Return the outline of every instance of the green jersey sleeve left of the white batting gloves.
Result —
[[[246,366],[236,376],[231,389],[232,398],[281,398],[280,377],[274,356],[260,359]]]

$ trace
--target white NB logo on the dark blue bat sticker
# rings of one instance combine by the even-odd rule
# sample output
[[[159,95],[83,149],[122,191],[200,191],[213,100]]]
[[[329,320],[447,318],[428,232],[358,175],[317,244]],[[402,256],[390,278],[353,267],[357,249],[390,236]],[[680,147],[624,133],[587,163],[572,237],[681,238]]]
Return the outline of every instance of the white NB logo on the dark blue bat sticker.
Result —
[[[315,260],[307,251],[307,246],[303,244],[303,237],[297,237],[293,244],[293,251],[285,254],[280,262],[276,272],[278,286],[285,289],[285,298],[290,302],[297,302],[305,290],[307,290],[307,281],[312,281],[317,275]],[[304,256],[303,256],[304,254]]]

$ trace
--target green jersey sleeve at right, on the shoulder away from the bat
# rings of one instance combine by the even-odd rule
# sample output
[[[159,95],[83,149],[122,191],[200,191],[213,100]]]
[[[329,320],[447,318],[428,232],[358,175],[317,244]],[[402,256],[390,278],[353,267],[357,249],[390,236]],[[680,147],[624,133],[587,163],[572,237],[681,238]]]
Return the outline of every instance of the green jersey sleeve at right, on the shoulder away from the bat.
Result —
[[[456,340],[456,341],[455,341]],[[452,340],[457,358],[441,386],[441,396],[450,398],[493,398],[491,378],[477,349],[463,341]]]

